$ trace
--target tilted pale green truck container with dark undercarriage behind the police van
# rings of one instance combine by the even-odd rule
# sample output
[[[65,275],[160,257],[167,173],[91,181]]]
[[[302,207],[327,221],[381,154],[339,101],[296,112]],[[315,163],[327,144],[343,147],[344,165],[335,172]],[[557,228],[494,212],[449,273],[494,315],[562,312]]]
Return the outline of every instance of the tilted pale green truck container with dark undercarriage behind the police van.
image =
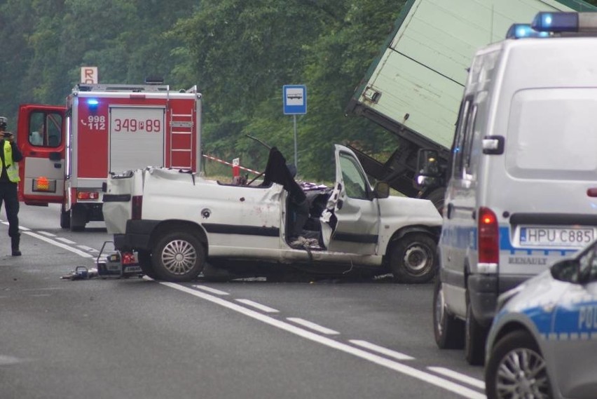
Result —
[[[419,149],[437,149],[447,164],[462,91],[477,48],[505,39],[514,23],[540,11],[597,11],[580,0],[409,0],[392,34],[355,90],[347,113],[397,135],[397,149],[379,162],[352,147],[366,172],[439,208],[444,187],[421,190]]]

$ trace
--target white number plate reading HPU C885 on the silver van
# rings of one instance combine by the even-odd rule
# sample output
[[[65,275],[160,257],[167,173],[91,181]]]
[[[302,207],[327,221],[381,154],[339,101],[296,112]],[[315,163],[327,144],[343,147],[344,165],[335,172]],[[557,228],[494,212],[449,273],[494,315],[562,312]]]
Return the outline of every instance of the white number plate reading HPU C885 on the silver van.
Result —
[[[592,228],[576,227],[521,227],[521,245],[548,247],[582,247],[595,237]]]

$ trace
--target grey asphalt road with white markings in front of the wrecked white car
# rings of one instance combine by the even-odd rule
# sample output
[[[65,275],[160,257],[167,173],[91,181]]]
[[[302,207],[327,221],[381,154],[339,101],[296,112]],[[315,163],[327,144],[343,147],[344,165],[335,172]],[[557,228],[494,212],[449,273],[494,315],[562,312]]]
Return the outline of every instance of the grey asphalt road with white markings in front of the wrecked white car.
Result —
[[[94,266],[103,224],[20,219],[22,257],[0,224],[2,399],[484,398],[482,368],[434,344],[430,284],[61,280]]]

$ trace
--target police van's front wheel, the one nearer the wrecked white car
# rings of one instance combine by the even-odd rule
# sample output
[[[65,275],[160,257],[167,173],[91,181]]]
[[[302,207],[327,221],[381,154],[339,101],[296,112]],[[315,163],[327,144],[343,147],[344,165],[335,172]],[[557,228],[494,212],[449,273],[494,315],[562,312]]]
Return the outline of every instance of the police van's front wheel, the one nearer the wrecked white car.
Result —
[[[462,349],[465,346],[465,323],[448,313],[439,278],[435,280],[433,290],[433,332],[439,349]]]

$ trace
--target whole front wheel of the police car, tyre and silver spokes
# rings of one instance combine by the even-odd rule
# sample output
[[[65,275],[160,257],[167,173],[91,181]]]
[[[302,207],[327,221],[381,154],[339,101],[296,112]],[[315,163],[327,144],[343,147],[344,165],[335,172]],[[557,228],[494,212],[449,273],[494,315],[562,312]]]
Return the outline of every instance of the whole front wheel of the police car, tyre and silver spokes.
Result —
[[[552,398],[547,366],[528,332],[510,332],[490,352],[485,370],[488,399]]]

